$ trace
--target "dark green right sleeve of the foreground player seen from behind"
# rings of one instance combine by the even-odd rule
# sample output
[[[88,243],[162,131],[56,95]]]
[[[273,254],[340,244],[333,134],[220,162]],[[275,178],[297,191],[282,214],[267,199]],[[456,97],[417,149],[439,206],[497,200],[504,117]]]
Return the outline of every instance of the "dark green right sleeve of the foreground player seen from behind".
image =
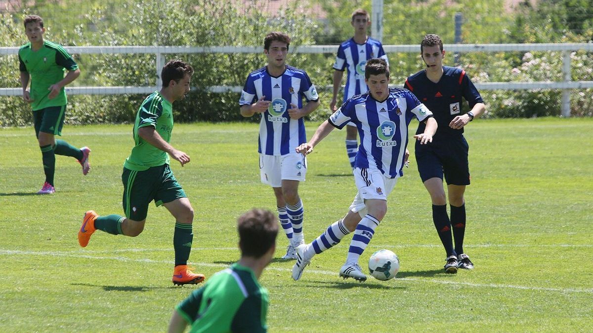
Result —
[[[267,332],[267,297],[255,293],[247,297],[232,318],[232,332]]]

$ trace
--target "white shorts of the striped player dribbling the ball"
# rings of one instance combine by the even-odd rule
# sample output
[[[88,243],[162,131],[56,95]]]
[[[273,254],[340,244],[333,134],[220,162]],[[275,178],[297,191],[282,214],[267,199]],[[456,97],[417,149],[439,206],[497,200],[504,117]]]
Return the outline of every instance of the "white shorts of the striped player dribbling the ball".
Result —
[[[387,200],[387,196],[396,187],[398,177],[385,177],[379,169],[355,168],[353,173],[358,193],[356,193],[356,197],[354,197],[349,209],[364,217],[366,215],[365,200]]]

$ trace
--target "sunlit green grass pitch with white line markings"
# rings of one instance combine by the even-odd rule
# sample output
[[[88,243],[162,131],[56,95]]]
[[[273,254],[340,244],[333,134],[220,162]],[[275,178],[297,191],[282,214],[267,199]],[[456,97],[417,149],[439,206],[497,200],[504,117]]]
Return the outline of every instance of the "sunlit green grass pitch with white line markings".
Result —
[[[308,126],[308,137],[316,124]],[[415,127],[416,123],[412,123]],[[342,280],[350,236],[318,255],[301,280],[294,261],[275,260],[269,289],[272,332],[591,331],[593,329],[593,119],[478,120],[467,127],[472,184],[466,249],[476,269],[442,273],[445,253],[431,202],[412,159],[361,264],[396,252],[391,281]],[[76,232],[88,209],[122,214],[123,160],[132,126],[66,126],[88,145],[91,173],[56,158],[53,196],[43,183],[33,129],[0,129],[0,331],[165,331],[174,306],[197,286],[174,287],[173,225],[151,206],[137,238]],[[334,131],[308,158],[300,194],[307,241],[346,213],[356,188]],[[238,258],[237,216],[275,209],[260,184],[256,124],[178,124],[173,145],[192,162],[172,168],[196,212],[190,261],[211,276]],[[413,155],[413,145],[410,147]],[[276,258],[286,238],[278,238]]]

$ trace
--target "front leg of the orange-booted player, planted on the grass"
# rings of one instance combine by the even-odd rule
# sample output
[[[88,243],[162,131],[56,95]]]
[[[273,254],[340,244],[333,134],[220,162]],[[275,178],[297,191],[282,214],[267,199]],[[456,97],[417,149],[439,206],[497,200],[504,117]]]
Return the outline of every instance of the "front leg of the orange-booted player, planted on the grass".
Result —
[[[204,281],[203,274],[193,273],[187,266],[193,242],[193,207],[183,188],[175,179],[169,165],[164,165],[163,181],[155,194],[157,206],[164,205],[175,217],[173,248],[175,268],[173,284],[196,284]]]

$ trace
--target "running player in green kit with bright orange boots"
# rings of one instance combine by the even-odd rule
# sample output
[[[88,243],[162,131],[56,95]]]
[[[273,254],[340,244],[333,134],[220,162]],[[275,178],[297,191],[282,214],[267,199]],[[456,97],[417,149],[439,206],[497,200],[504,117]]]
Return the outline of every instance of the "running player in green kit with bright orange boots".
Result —
[[[126,216],[84,214],[78,243],[85,247],[95,230],[113,235],[136,237],[144,230],[148,205],[154,200],[176,219],[174,284],[196,284],[204,280],[187,266],[192,250],[193,208],[169,167],[169,156],[189,163],[189,156],[170,145],[173,131],[173,102],[183,100],[190,90],[193,68],[181,60],[171,60],[161,71],[162,88],[150,94],[138,109],[134,123],[135,146],[123,164],[123,210]]]

